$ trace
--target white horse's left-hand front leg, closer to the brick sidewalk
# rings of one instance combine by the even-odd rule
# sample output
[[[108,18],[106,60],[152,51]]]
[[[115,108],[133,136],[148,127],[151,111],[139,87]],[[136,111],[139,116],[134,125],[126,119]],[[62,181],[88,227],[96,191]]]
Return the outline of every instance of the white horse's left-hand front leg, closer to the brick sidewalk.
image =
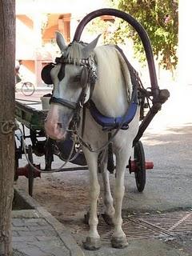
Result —
[[[86,162],[90,170],[90,217],[89,217],[89,234],[83,246],[86,250],[98,250],[101,247],[100,236],[98,234],[98,215],[97,204],[100,194],[100,186],[98,183],[98,154],[90,153],[84,149]]]

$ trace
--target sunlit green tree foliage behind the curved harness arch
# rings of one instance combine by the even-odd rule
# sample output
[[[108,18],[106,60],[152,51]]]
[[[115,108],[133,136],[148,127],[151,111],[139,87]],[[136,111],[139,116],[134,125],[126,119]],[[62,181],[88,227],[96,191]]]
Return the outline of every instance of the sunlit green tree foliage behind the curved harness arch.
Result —
[[[178,0],[110,0],[118,10],[129,13],[142,24],[149,35],[158,62],[168,70],[177,65]],[[145,59],[142,42],[133,28],[118,19],[117,30],[110,38],[124,42],[134,40],[134,51],[141,61]]]

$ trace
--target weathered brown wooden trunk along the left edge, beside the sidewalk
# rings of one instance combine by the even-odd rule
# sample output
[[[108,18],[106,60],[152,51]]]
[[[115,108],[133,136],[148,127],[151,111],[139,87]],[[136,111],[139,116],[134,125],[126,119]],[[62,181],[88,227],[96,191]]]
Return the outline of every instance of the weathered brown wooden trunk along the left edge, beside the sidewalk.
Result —
[[[0,255],[10,256],[14,183],[15,0],[0,0]]]

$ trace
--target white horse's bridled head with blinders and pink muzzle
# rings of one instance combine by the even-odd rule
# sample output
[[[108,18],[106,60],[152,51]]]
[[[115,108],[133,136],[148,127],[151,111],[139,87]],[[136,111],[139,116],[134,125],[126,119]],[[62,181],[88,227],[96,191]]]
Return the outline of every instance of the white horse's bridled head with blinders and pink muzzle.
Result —
[[[74,113],[90,98],[90,86],[97,78],[93,50],[98,38],[90,44],[71,42],[67,46],[62,34],[56,32],[62,56],[42,70],[43,81],[54,84],[45,122],[50,138],[64,139]]]

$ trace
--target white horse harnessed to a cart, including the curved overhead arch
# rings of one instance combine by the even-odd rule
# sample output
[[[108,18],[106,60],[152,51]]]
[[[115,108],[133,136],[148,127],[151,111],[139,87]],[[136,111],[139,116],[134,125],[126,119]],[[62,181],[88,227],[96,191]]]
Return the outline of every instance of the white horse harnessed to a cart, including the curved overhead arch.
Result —
[[[96,47],[98,38],[90,44],[80,42],[86,24],[102,15],[122,18],[138,32],[146,51],[150,72],[151,86],[147,90],[118,46]],[[16,118],[30,129],[28,137],[30,136],[32,142],[32,146],[28,146],[26,150],[22,150],[25,149],[22,145],[16,148],[16,166],[18,167],[18,158],[22,157],[23,151],[26,151],[32,163],[32,153],[45,155],[46,172],[53,171],[51,162],[54,154],[83,168],[89,166],[92,200],[89,214],[90,234],[84,243],[88,250],[100,247],[96,213],[99,170],[106,190],[106,215],[109,222],[113,217],[115,226],[111,242],[114,247],[122,248],[127,245],[121,228],[124,171],[127,167],[130,173],[134,172],[138,191],[141,192],[146,183],[146,169],[153,168],[153,163],[145,161],[139,139],[154,115],[161,110],[169,92],[159,89],[150,40],[141,24],[129,14],[114,9],[96,10],[82,19],[69,46],[66,46],[62,34],[57,33],[56,39],[62,56],[42,70],[44,82],[54,84],[48,114],[47,111],[34,110],[16,102]],[[147,113],[144,111],[145,107],[148,107]],[[23,138],[26,137],[24,134]],[[130,159],[133,147],[134,159]],[[42,170],[33,165],[28,169],[26,173],[30,173],[26,176],[29,177],[32,194],[33,178]],[[115,209],[107,169],[110,172],[115,169]],[[62,168],[62,171],[65,170],[69,169]],[[22,174],[22,171],[18,167],[16,176]]]

